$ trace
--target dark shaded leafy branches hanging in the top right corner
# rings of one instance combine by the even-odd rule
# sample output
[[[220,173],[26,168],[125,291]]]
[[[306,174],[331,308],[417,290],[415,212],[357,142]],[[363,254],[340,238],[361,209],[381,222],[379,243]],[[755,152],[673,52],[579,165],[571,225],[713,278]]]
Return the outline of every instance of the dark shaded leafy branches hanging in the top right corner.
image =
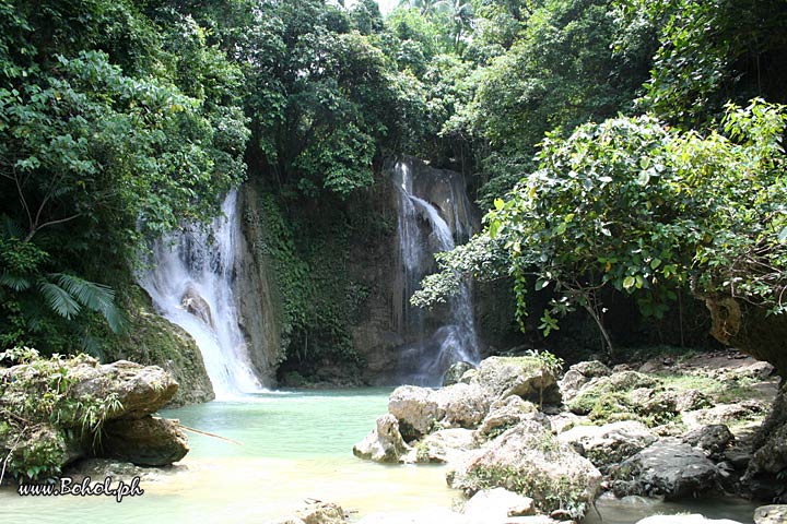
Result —
[[[725,104],[785,100],[787,5],[780,0],[620,2],[632,25],[649,25],[660,46],[643,106],[685,127],[724,115]]]

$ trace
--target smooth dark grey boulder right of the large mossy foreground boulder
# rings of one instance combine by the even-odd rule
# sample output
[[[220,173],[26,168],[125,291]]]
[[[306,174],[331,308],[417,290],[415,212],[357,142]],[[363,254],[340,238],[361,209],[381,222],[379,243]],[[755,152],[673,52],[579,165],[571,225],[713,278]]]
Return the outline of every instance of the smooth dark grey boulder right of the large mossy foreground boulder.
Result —
[[[700,450],[678,439],[660,440],[611,469],[619,497],[696,497],[718,489],[721,473]]]

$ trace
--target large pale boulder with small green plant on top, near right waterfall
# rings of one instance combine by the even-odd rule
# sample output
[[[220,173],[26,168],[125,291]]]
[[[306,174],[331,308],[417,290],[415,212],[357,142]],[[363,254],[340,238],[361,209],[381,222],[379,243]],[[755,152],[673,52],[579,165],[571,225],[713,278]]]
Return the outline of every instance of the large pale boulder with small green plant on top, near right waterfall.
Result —
[[[562,402],[556,377],[536,357],[486,358],[473,381],[495,398],[516,395],[540,405]]]

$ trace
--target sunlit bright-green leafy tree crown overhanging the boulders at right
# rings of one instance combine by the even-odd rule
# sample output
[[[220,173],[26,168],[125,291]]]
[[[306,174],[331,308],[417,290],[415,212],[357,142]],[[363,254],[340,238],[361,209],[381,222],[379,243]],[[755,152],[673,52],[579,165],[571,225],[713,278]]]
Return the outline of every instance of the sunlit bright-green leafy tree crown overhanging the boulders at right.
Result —
[[[782,312],[785,129],[782,108],[730,106],[727,134],[681,133],[650,117],[550,135],[541,168],[491,213],[525,312],[528,276],[551,287],[551,320],[585,308],[603,330],[611,287],[659,317],[676,291],[728,294]],[[609,340],[607,340],[609,343]]]

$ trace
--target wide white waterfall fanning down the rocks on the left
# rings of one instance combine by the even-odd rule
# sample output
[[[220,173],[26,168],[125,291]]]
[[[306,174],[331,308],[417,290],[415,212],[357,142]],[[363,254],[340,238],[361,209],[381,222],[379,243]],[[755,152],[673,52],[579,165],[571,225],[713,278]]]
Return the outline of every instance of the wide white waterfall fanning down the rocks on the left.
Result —
[[[156,241],[153,267],[140,277],[158,312],[197,342],[216,400],[262,390],[238,327],[232,286],[240,236],[236,209],[237,193],[231,191],[224,216],[213,219],[210,231],[190,227]]]

